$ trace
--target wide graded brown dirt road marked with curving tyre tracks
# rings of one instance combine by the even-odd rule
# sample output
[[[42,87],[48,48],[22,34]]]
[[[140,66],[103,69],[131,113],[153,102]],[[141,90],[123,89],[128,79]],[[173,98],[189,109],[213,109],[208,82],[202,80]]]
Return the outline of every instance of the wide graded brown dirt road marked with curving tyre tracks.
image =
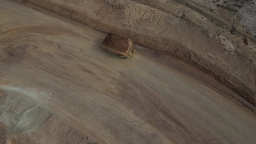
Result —
[[[33,101],[97,143],[256,143],[255,113],[230,89],[140,46],[131,59],[109,55],[100,47],[105,36],[0,0],[1,92]]]

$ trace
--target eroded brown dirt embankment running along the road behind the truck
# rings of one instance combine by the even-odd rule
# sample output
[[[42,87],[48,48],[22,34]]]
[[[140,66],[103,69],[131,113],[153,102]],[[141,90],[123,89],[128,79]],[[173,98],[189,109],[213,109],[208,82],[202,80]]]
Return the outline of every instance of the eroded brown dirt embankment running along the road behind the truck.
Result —
[[[168,8],[166,11],[156,7],[154,1],[27,2],[100,31],[131,38],[165,55],[177,56],[216,77],[256,106],[255,44],[245,44],[244,38],[184,5],[159,1]]]

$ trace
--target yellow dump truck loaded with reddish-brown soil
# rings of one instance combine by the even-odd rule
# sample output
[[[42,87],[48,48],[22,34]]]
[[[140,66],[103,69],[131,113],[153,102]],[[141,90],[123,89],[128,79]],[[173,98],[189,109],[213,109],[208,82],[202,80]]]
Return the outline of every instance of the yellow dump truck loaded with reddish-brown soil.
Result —
[[[114,53],[120,58],[132,57],[132,53],[135,52],[134,44],[131,39],[122,38],[111,33],[107,34],[101,46],[108,53]]]

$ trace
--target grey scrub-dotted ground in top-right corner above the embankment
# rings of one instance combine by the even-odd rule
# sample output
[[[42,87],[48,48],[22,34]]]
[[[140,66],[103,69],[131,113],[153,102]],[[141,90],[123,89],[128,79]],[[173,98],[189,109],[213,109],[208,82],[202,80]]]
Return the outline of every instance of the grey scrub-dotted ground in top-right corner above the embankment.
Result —
[[[256,1],[255,0],[192,0],[201,7],[232,23],[256,39]]]

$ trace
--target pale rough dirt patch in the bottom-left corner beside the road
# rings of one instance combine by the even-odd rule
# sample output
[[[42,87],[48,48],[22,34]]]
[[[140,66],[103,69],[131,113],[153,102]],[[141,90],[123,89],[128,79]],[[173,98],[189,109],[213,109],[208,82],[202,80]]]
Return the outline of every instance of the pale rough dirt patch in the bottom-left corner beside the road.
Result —
[[[0,99],[1,144],[96,143],[50,111],[20,96],[5,95]]]

